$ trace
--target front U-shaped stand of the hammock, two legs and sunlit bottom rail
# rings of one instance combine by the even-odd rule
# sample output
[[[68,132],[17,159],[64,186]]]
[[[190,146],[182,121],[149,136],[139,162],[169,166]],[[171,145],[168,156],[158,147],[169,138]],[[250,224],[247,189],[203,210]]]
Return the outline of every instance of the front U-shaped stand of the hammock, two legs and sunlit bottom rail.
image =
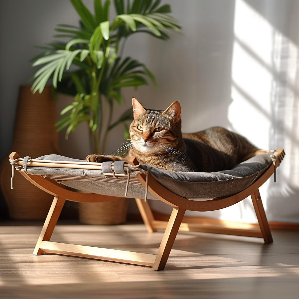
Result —
[[[58,217],[65,203],[65,199],[55,196],[45,220],[42,232],[34,248],[33,254],[44,253],[65,254],[76,257],[89,257],[112,262],[129,263],[134,265],[151,266],[153,270],[163,270],[169,257],[173,242],[184,217],[185,210],[174,208],[170,215],[161,241],[158,254],[146,254],[115,249],[90,247],[66,243],[50,242]]]

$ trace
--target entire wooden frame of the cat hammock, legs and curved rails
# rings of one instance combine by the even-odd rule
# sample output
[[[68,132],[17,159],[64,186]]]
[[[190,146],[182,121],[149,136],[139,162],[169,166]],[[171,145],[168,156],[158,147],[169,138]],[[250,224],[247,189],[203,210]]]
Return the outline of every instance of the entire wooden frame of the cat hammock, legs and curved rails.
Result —
[[[218,234],[232,234],[248,237],[260,237],[263,238],[265,243],[273,242],[269,224],[266,218],[266,214],[263,208],[263,204],[260,198],[258,188],[273,174],[274,170],[279,166],[284,157],[283,149],[279,149],[279,156],[273,166],[270,166],[266,172],[260,176],[257,181],[247,187],[245,190],[228,197],[217,198],[206,201],[194,201],[183,198],[171,191],[167,190],[161,184],[158,183],[150,174],[148,175],[148,190],[158,199],[166,202],[168,205],[173,206],[169,221],[158,221],[154,219],[152,211],[148,202],[144,202],[143,199],[135,199],[141,213],[144,224],[149,232],[155,232],[157,229],[165,229],[164,236],[162,238],[158,254],[145,254],[131,251],[121,251],[114,249],[73,245],[65,243],[51,242],[50,238],[54,231],[58,217],[62,210],[65,200],[71,200],[75,202],[105,202],[119,199],[120,197],[106,196],[93,193],[77,193],[68,190],[67,187],[60,187],[55,184],[55,181],[47,180],[42,176],[28,175],[25,171],[20,173],[28,179],[32,184],[36,185],[40,189],[54,195],[54,200],[49,210],[48,216],[45,220],[45,224],[42,228],[42,232],[36,243],[36,247],[33,251],[35,255],[41,255],[44,253],[65,254],[77,257],[89,257],[99,260],[115,261],[122,263],[130,263],[135,265],[150,266],[153,270],[163,270],[167,259],[169,257],[171,248],[175,241],[176,235],[179,230],[181,231],[203,231],[209,233]],[[10,159],[14,160],[21,158],[16,152],[10,154]],[[134,161],[134,164],[138,161]],[[146,176],[143,174],[137,175],[138,180],[142,185],[146,184]],[[254,205],[254,210],[257,214],[260,229],[258,228],[246,228],[246,227],[220,227],[218,225],[208,226],[202,223],[196,223],[195,221],[182,222],[184,213],[186,210],[192,211],[212,211],[226,208],[234,205],[237,202],[245,199],[251,195],[251,199]]]

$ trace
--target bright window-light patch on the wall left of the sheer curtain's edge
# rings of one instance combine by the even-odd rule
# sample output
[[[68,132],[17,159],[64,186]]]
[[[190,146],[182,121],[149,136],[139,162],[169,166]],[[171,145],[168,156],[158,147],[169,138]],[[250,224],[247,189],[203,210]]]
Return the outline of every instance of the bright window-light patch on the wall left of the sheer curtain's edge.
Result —
[[[271,126],[271,25],[242,0],[236,1],[232,58],[232,129],[260,148],[269,148]],[[258,59],[256,59],[258,57]],[[262,62],[262,63],[260,63]]]

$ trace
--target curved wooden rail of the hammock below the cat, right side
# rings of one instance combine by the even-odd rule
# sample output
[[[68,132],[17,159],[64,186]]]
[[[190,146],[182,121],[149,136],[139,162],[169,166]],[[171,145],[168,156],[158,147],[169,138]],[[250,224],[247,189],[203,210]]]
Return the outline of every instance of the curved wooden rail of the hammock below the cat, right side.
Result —
[[[278,167],[278,165],[280,164],[280,162],[284,157],[283,149],[279,149],[277,152],[279,152],[279,157],[275,162],[275,169]],[[171,192],[170,190],[166,189],[164,186],[162,186],[150,174],[148,175],[148,190],[150,193],[152,193],[152,195],[154,195],[161,201],[173,207],[180,207],[185,210],[199,211],[199,212],[214,211],[214,210],[227,208],[231,205],[236,204],[237,202],[240,202],[241,200],[245,199],[247,196],[250,196],[261,185],[263,185],[265,181],[267,181],[267,179],[269,179],[269,177],[273,173],[274,173],[274,164],[270,165],[268,170],[266,170],[266,172],[259,179],[257,179],[257,181],[255,181],[253,184],[251,184],[243,191],[231,196],[205,200],[205,201],[190,200],[182,196],[179,196]],[[139,174],[137,175],[137,178],[141,182],[141,184],[145,187],[146,175]]]

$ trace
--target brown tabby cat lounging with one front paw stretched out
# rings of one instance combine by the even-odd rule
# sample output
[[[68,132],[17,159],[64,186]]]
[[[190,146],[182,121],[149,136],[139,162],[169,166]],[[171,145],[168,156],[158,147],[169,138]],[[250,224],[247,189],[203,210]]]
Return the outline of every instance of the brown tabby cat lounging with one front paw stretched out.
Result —
[[[145,109],[135,98],[132,105],[132,144],[126,154],[89,155],[86,161],[132,161],[136,157],[141,163],[165,170],[213,172],[232,169],[242,161],[268,152],[221,127],[182,134],[179,102],[172,103],[165,111]]]

